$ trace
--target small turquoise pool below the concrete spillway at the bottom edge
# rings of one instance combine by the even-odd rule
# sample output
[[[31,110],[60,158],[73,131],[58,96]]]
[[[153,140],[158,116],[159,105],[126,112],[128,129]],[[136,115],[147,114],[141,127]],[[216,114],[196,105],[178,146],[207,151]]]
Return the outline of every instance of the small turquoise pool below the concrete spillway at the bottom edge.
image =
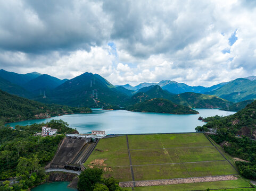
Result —
[[[69,188],[68,185],[69,185],[69,182],[67,181],[45,183],[35,188],[32,188],[31,190],[32,191],[75,191],[77,190],[75,188]]]

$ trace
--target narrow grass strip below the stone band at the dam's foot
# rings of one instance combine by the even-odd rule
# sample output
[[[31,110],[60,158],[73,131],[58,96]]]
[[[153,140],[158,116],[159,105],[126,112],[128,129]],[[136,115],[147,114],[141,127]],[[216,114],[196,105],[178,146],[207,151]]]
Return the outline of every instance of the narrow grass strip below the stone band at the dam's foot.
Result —
[[[188,184],[178,184],[178,185],[163,185],[163,186],[144,186],[135,187],[135,191],[188,191],[188,190],[203,190],[203,189],[220,189],[220,188],[240,188],[240,189],[225,189],[228,191],[254,191],[255,188],[241,188],[250,187],[250,184],[244,181],[242,178],[237,180],[226,180],[226,181],[216,181],[210,183],[188,183]],[[126,188],[127,189],[127,188]],[[131,190],[131,188],[128,188]],[[218,190],[219,191],[219,190]]]

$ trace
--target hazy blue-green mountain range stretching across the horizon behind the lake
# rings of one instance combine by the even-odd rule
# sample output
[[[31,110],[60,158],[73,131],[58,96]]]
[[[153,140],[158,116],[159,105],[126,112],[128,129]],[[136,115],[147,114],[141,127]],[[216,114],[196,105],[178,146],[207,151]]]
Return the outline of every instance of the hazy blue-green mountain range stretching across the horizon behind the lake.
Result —
[[[87,72],[71,80],[61,80],[37,72],[18,74],[0,70],[0,89],[40,102],[75,107],[128,106],[147,99],[164,98],[191,108],[225,108],[232,104],[230,101],[255,99],[255,79],[256,76],[249,76],[211,87],[189,86],[170,80],[131,86],[112,85],[102,76]]]

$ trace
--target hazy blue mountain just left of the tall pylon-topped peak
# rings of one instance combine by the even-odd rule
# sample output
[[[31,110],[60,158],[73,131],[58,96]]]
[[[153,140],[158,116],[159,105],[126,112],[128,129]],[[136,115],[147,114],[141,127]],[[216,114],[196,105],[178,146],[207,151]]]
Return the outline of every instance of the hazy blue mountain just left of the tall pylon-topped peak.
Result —
[[[22,86],[30,92],[36,92],[37,94],[39,94],[40,92],[42,93],[42,91],[45,90],[53,90],[57,86],[63,84],[65,81],[67,80],[60,80],[56,77],[43,74],[36,77],[35,79],[28,81]]]

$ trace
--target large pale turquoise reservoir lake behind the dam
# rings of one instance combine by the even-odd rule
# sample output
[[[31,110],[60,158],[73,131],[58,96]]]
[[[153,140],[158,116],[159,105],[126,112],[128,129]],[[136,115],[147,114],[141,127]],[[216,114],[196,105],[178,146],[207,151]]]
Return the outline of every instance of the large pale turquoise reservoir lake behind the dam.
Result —
[[[93,109],[92,114],[73,114],[56,116],[48,119],[26,120],[10,123],[10,126],[46,123],[52,119],[62,119],[79,133],[92,130],[106,131],[106,134],[129,133],[179,133],[194,132],[196,126],[205,124],[197,120],[199,116],[227,116],[235,112],[220,111],[218,109],[196,109],[198,115],[173,115],[131,112],[126,110],[106,111]]]

